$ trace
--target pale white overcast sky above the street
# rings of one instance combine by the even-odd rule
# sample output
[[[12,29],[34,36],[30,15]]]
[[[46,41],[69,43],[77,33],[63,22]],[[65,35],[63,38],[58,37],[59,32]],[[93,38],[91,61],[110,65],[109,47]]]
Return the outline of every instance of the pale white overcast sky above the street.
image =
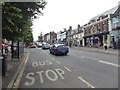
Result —
[[[59,32],[69,26],[87,24],[91,18],[115,7],[120,0],[45,0],[47,5],[42,11],[43,16],[33,21],[33,37],[50,31]]]

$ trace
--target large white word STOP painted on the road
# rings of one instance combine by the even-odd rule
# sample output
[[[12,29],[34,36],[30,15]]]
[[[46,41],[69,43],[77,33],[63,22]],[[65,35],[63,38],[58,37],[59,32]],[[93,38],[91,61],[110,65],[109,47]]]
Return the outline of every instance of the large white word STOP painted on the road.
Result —
[[[57,81],[59,77],[63,80],[64,78],[64,70],[62,69],[54,69],[54,70],[46,70],[46,71],[37,71],[30,72],[26,75],[27,81],[25,81],[25,86],[32,86],[35,83],[38,84],[38,80],[41,84],[45,83],[46,78],[50,81]],[[45,76],[45,77],[44,77]]]

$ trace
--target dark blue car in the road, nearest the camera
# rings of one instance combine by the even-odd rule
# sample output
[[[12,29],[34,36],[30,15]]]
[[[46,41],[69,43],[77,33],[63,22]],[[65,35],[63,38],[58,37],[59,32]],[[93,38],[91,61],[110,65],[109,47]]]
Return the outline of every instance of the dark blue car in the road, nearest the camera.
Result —
[[[69,48],[64,44],[54,44],[50,48],[50,53],[54,55],[67,55],[67,53],[69,53]]]

